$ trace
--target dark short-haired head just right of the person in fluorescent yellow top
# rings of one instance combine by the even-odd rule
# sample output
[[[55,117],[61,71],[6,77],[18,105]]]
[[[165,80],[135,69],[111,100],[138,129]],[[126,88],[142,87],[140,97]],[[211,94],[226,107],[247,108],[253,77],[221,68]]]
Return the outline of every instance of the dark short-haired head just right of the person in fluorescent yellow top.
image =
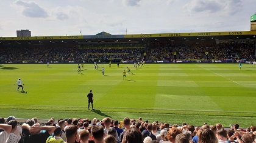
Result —
[[[76,125],[69,125],[66,127],[66,143],[74,143],[77,138],[77,127]]]

